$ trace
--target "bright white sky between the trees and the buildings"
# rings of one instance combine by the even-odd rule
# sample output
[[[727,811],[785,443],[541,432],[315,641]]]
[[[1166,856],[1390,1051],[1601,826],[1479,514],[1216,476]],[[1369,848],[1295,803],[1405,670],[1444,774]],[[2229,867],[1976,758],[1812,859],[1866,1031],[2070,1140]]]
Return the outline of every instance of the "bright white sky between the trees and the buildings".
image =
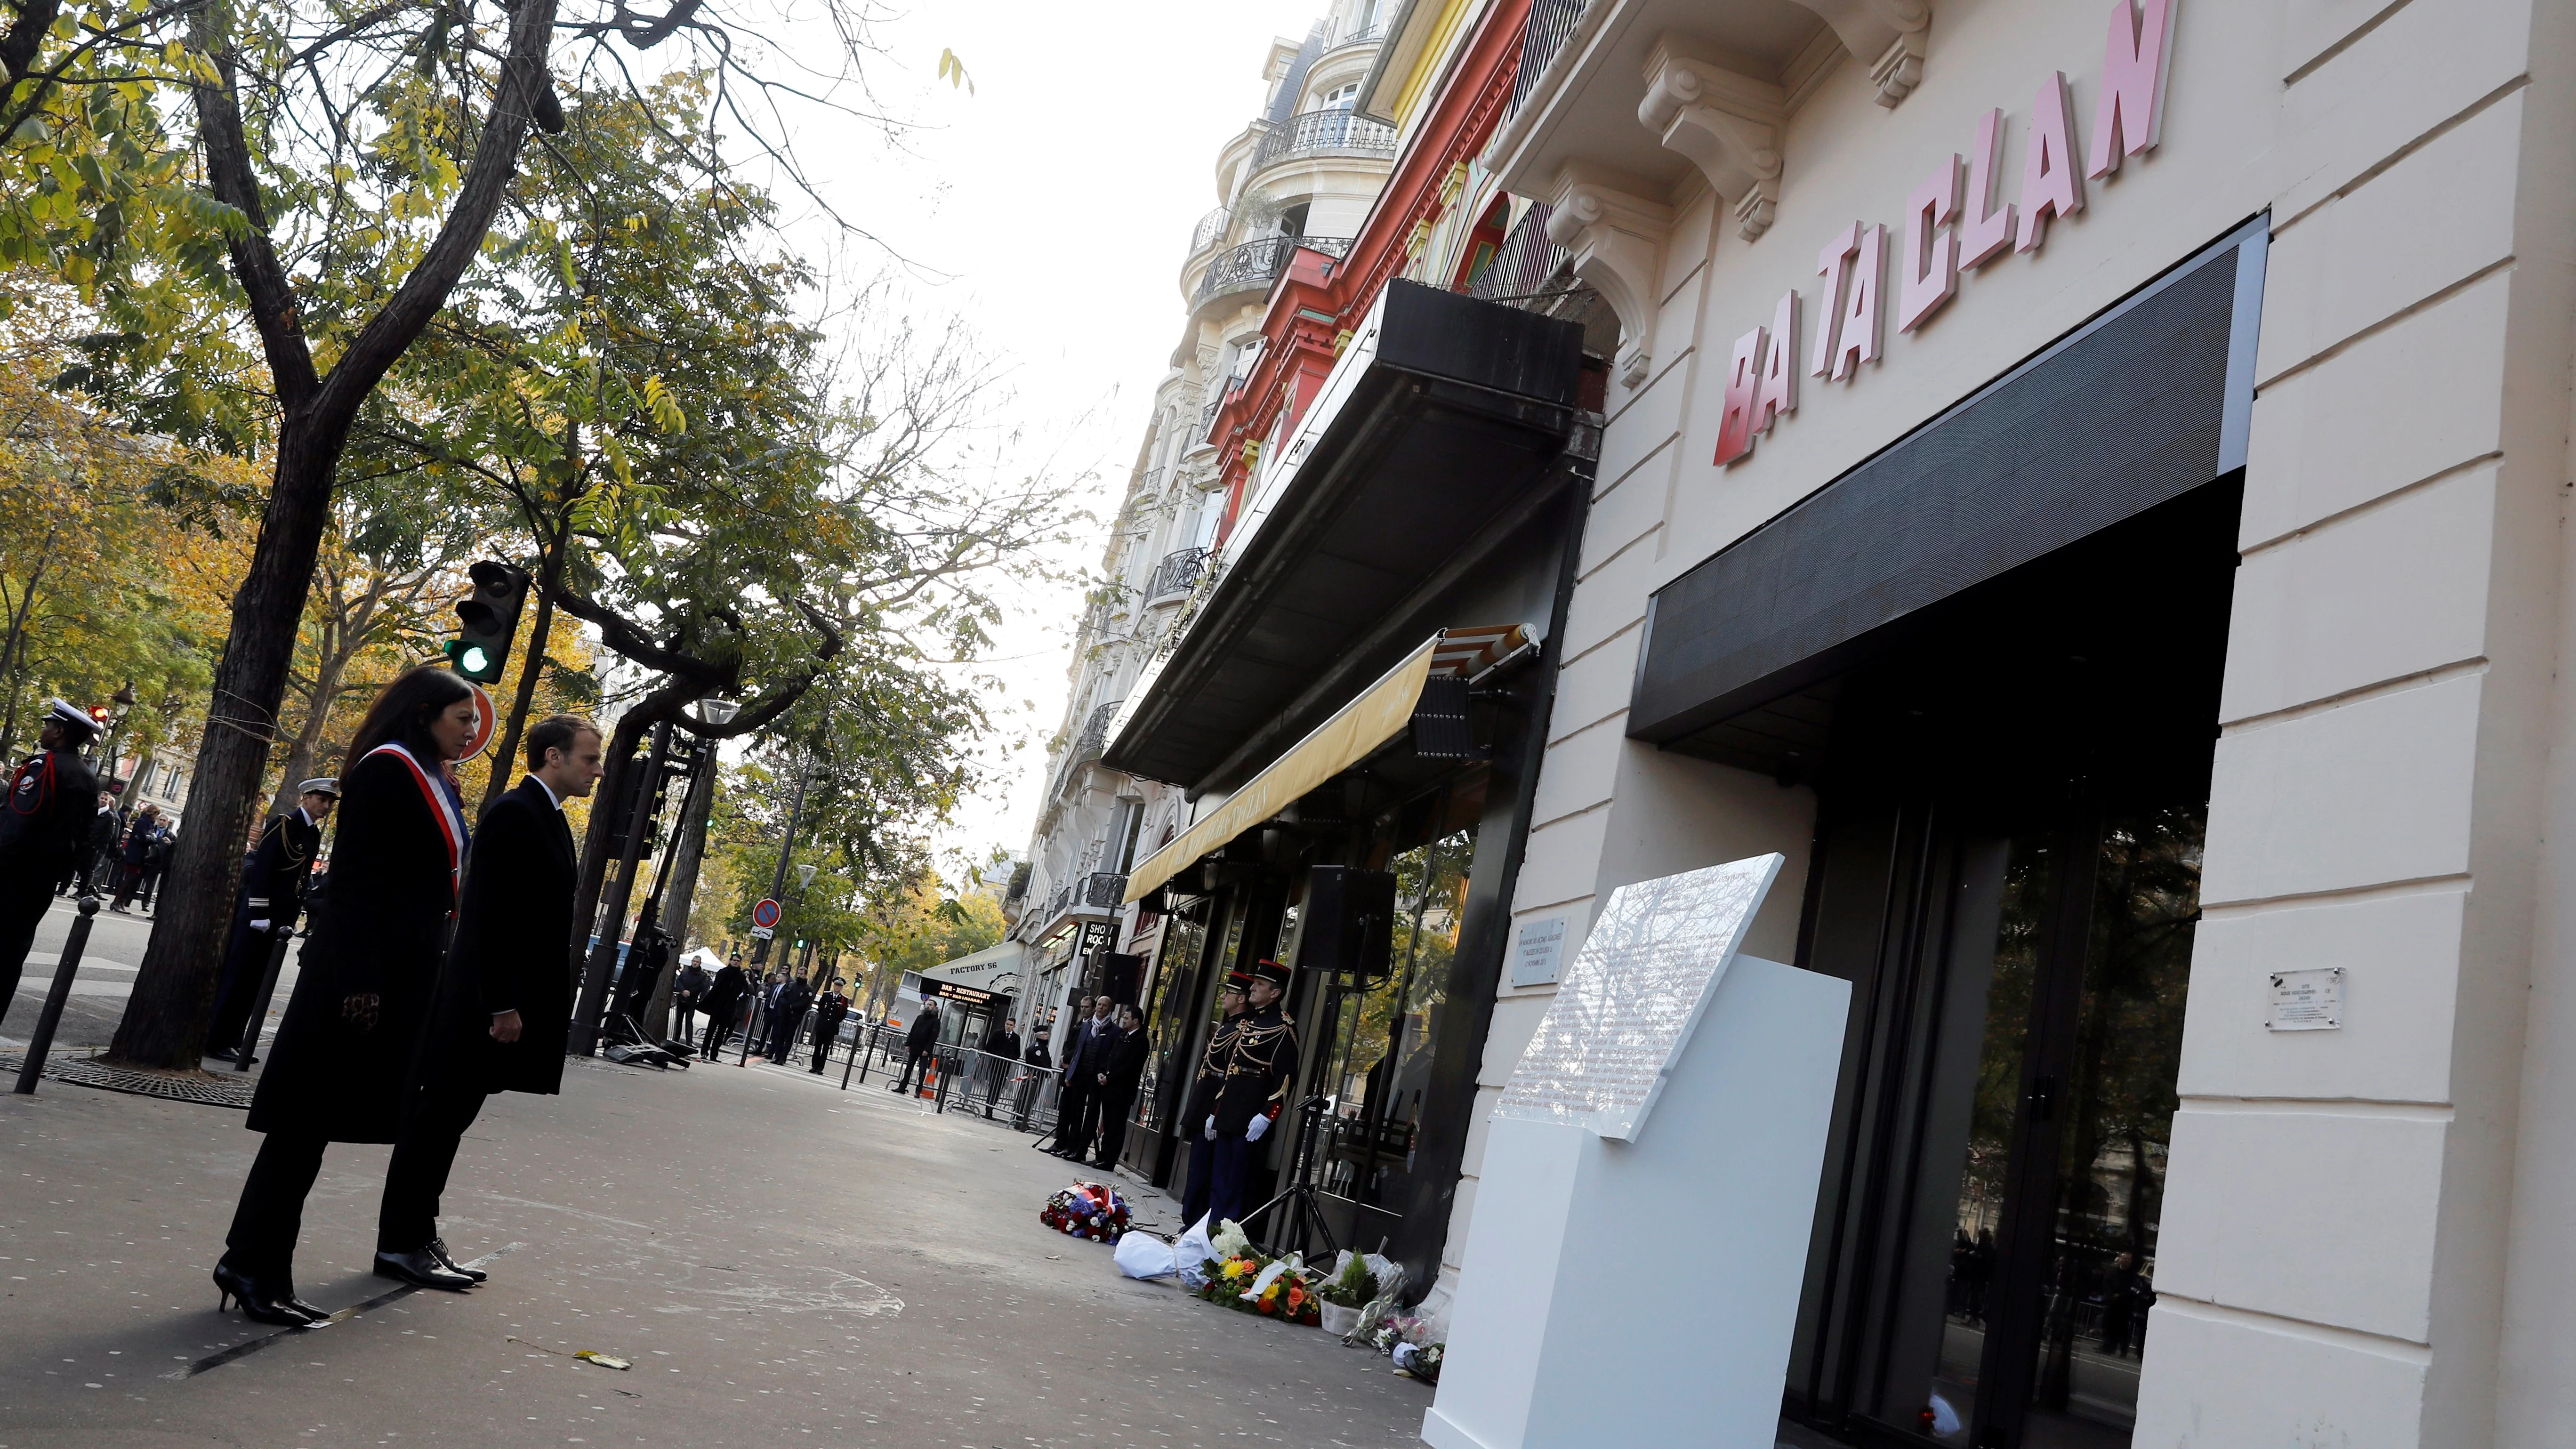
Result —
[[[914,317],[961,317],[1007,376],[1020,467],[1090,472],[1115,508],[1154,384],[1182,335],[1180,263],[1216,206],[1216,152],[1260,111],[1273,36],[1303,36],[1324,0],[945,0],[876,28],[868,70],[917,129],[889,147],[855,121],[801,116],[796,152],[824,199],[909,263]],[[974,93],[935,80],[956,49]],[[781,196],[786,201],[786,196]],[[817,227],[819,235],[819,227]],[[817,237],[822,240],[822,237]],[[850,255],[850,271],[896,266]],[[1069,559],[1092,567],[1095,529]],[[1002,784],[940,846],[1028,848],[1041,750],[1064,714],[1077,585],[1020,590],[994,650]]]

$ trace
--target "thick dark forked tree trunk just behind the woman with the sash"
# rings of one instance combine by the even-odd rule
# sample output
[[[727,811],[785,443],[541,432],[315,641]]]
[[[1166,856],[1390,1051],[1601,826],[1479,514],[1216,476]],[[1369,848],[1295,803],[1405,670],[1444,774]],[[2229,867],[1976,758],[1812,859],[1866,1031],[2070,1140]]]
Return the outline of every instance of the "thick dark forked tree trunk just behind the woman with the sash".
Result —
[[[216,199],[240,209],[250,227],[229,240],[260,351],[268,358],[283,418],[278,464],[260,513],[260,539],[250,575],[232,596],[232,632],[214,665],[206,737],[196,750],[196,789],[188,828],[178,833],[144,949],[108,1057],[134,1067],[196,1067],[206,1049],[206,1018],[232,926],[232,895],[250,843],[250,822],[276,743],[278,699],[294,663],[296,627],[312,590],[322,531],[330,526],[332,474],[348,449],[358,407],[384,382],[394,361],[420,338],[448,302],[448,291],[482,250],[492,217],[518,170],[528,139],[533,98],[546,90],[546,44],[556,0],[520,0],[510,18],[510,54],[500,90],[474,147],[474,165],[456,193],[438,240],[420,258],[384,309],[340,351],[330,376],[314,376],[294,284],[268,240],[268,206],[255,180],[242,111],[232,90],[232,36],[216,34],[222,8],[209,5],[204,36],[222,39],[222,83],[198,83],[198,142]],[[209,46],[214,49],[214,46]]]

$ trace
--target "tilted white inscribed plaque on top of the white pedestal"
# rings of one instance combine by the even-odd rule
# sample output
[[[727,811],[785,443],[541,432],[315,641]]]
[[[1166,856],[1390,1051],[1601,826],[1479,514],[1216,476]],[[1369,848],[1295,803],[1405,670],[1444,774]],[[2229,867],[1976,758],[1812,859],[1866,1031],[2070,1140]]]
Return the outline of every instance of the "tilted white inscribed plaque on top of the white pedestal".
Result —
[[[1633,1142],[1780,866],[1754,856],[1613,890],[1494,1116]]]

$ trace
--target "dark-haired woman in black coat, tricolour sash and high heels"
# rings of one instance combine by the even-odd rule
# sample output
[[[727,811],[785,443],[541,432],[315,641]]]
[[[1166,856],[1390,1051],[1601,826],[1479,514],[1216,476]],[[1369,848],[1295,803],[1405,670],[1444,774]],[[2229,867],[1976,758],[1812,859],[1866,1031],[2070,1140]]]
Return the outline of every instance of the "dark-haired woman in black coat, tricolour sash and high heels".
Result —
[[[250,1098],[250,1129],[268,1140],[214,1266],[216,1292],[260,1323],[327,1318],[294,1289],[322,1147],[392,1142],[402,1129],[466,848],[464,802],[443,766],[466,753],[477,727],[474,691],[422,665],[384,686],[350,740],[330,900]]]

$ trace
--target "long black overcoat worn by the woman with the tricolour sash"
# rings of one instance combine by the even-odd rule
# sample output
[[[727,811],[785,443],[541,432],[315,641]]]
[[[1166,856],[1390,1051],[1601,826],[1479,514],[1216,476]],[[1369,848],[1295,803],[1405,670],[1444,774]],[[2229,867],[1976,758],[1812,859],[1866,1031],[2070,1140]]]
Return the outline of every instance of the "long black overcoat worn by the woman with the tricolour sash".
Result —
[[[448,830],[417,779],[392,753],[371,753],[340,779],[332,890],[314,910],[296,995],[250,1098],[252,1132],[330,1142],[402,1132],[456,910]],[[348,1024],[340,1003],[350,995],[379,998],[374,1026]]]

